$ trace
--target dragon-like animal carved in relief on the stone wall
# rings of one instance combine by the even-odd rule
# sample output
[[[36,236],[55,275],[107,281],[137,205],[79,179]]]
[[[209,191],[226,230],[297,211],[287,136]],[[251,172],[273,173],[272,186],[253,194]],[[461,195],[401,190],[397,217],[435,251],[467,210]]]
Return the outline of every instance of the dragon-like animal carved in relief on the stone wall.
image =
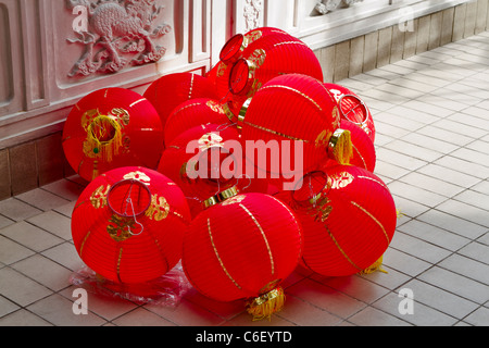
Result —
[[[166,49],[153,40],[172,27],[153,24],[163,9],[155,4],[156,0],[66,1],[73,13],[83,16],[73,24],[78,37],[67,40],[85,45],[85,52],[68,76],[116,73],[129,63],[127,54],[139,53],[130,60],[133,65],[156,62],[165,54]]]

